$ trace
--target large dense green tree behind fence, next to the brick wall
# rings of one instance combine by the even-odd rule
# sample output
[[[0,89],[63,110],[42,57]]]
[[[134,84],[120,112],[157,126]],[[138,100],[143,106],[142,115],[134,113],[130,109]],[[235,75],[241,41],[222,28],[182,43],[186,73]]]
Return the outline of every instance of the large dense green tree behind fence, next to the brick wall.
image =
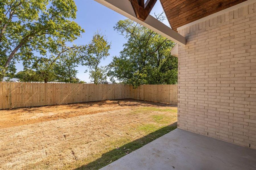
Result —
[[[156,15],[159,20],[163,17]],[[131,84],[176,84],[177,58],[171,56],[173,41],[129,19],[120,20],[114,29],[125,36],[127,42],[120,56],[113,57],[108,76]]]

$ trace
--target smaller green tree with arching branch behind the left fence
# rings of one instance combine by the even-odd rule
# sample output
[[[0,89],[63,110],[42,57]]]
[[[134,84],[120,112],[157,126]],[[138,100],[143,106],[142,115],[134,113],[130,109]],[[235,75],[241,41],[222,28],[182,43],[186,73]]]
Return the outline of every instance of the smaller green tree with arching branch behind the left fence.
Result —
[[[36,58],[32,61],[30,69],[34,69],[36,74],[44,82],[64,81],[77,82],[75,77],[77,71],[75,67],[78,64],[79,52],[86,50],[86,45],[72,47],[65,46],[65,44],[56,46],[57,55],[51,54],[49,56]],[[65,75],[68,73],[67,75]]]

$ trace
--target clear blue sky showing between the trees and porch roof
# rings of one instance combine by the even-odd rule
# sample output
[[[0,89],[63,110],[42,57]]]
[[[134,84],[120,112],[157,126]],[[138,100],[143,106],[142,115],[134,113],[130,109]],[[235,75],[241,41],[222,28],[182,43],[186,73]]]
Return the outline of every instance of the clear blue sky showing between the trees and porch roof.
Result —
[[[77,18],[75,21],[85,30],[85,33],[73,43],[86,44],[90,42],[96,31],[100,31],[106,35],[108,41],[111,42],[110,56],[101,61],[101,65],[108,65],[112,61],[113,56],[119,55],[126,41],[123,36],[119,35],[117,31],[113,29],[113,26],[119,20],[126,19],[126,17],[94,0],[75,0],[75,2],[77,5]],[[162,6],[158,0],[152,9],[152,14],[154,12],[161,13],[162,11]],[[164,24],[169,25],[167,20],[164,21]],[[23,70],[22,63],[17,63],[16,68],[17,72]],[[79,71],[77,77],[80,80],[90,82],[89,73],[84,73],[86,70],[85,66],[79,66],[77,70]]]

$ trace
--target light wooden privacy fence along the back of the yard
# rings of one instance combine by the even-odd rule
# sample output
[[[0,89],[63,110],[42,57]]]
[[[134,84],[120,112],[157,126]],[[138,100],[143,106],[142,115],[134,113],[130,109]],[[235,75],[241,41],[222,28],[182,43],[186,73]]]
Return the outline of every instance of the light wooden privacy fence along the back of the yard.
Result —
[[[0,82],[0,109],[129,98],[177,104],[177,85]]]

